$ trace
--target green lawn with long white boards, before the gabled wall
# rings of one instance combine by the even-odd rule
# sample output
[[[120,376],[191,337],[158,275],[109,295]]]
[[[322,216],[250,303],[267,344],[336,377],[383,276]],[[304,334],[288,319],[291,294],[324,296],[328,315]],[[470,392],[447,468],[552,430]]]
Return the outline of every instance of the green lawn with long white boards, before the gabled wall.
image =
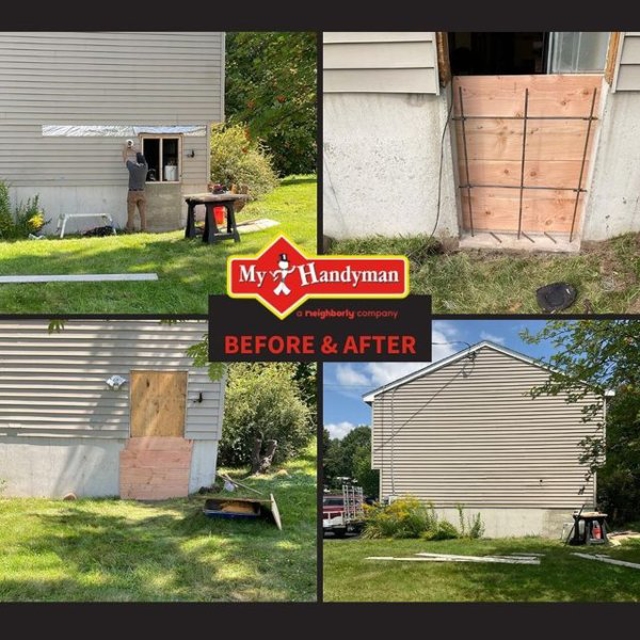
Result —
[[[540,565],[389,562],[368,556],[541,553]],[[640,570],[576,558],[598,553],[640,563],[640,544],[568,546],[540,538],[324,542],[325,602],[622,602],[640,601]]]

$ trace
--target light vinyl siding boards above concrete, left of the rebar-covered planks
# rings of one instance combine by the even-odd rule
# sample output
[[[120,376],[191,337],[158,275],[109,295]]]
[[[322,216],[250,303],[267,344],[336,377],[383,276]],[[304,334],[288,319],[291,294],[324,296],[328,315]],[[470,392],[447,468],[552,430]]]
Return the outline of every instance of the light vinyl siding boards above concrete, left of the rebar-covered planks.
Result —
[[[437,94],[435,32],[323,34],[324,93]]]

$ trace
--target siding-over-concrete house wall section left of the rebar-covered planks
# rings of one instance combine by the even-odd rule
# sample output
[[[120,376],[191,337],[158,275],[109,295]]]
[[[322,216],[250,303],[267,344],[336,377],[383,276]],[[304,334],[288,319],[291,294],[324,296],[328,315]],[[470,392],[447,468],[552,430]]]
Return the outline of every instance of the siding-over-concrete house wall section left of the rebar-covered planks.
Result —
[[[434,231],[447,100],[434,32],[323,36],[323,232],[342,239]],[[440,236],[457,236],[445,136]]]

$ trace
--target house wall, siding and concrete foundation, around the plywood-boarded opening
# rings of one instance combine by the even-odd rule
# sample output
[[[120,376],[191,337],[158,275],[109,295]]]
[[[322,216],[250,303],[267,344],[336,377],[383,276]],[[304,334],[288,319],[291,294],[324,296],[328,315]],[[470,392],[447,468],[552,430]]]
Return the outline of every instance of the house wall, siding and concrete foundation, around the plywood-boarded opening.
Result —
[[[224,411],[212,382],[185,354],[206,321],[0,322],[0,479],[3,495],[117,495],[129,437],[130,388],[106,380],[131,370],[188,371],[185,438],[194,441],[190,489],[211,484]],[[202,392],[203,401],[195,402]],[[200,444],[202,443],[202,444]],[[197,485],[197,486],[196,486]]]

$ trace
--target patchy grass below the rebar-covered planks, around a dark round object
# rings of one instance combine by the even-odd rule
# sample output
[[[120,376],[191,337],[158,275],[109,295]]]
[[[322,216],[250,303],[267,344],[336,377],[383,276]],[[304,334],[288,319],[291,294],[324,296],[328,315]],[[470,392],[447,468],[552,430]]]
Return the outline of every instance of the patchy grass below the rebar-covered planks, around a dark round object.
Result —
[[[331,252],[409,256],[411,293],[430,294],[434,313],[546,313],[536,289],[554,282],[577,289],[565,313],[640,312],[640,235],[620,236],[580,254],[434,254],[427,240],[372,237],[338,242]]]

